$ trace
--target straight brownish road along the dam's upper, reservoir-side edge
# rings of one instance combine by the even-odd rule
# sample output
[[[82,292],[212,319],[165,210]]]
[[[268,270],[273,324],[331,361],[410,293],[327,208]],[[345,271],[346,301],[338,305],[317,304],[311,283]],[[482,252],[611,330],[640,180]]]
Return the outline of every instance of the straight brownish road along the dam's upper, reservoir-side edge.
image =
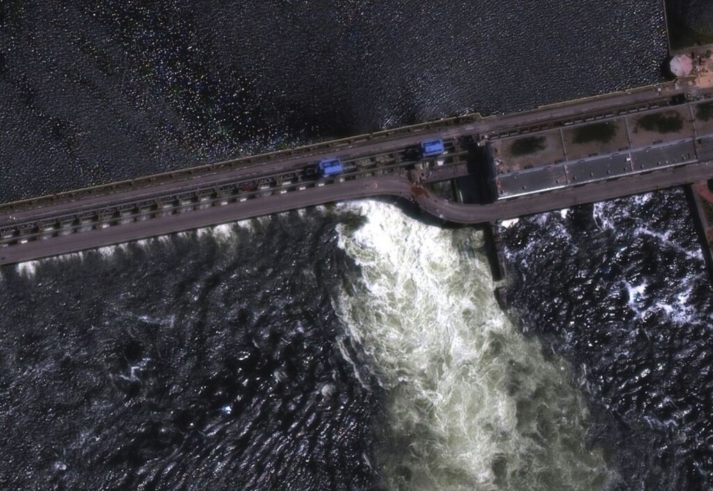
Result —
[[[344,159],[371,153],[381,153],[395,148],[404,148],[404,146],[415,145],[420,140],[427,138],[488,135],[510,131],[513,128],[548,125],[553,121],[586,118],[588,115],[603,114],[614,111],[617,108],[657,103],[667,98],[683,95],[687,90],[687,88],[677,88],[672,83],[661,83],[626,92],[595,95],[590,98],[553,103],[519,113],[491,115],[485,118],[480,113],[473,113],[403,128],[394,128],[393,130],[383,130],[351,138],[317,143],[292,150],[279,150],[272,153],[251,155],[209,165],[199,165],[182,170],[138,177],[133,180],[110,182],[105,185],[58,192],[53,195],[31,197],[15,202],[0,203],[0,222],[3,221],[2,215],[7,213],[16,214],[18,209],[36,210],[38,207],[56,207],[58,205],[56,201],[74,200],[74,195],[83,192],[91,192],[99,196],[115,192],[128,195],[129,192],[137,192],[145,188],[155,189],[163,185],[173,189],[182,182],[190,182],[191,187],[211,185],[213,182],[227,178],[234,179],[237,176],[247,178],[265,175],[268,172],[277,172],[278,170],[282,172],[297,170],[308,163],[315,162],[319,157],[327,155]],[[124,185],[129,186],[130,189],[116,191],[116,189]],[[86,201],[85,197],[82,199],[83,202]]]

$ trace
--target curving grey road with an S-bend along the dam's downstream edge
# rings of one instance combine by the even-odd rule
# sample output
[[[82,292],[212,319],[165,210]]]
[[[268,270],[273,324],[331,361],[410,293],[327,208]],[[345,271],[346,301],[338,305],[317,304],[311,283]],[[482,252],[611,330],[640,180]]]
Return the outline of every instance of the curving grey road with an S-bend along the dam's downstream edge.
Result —
[[[677,187],[690,182],[707,180],[711,175],[713,175],[713,161],[697,162],[643,175],[620,177],[617,180],[591,182],[540,195],[499,200],[487,205],[463,205],[445,200],[434,195],[431,190],[414,184],[402,175],[369,177],[324,187],[313,187],[288,195],[272,195],[179,215],[154,217],[49,239],[37,239],[22,244],[21,247],[3,247],[0,249],[0,265],[81,252],[87,249],[360,198],[398,197],[418,205],[423,212],[438,217],[444,222],[483,224]]]

